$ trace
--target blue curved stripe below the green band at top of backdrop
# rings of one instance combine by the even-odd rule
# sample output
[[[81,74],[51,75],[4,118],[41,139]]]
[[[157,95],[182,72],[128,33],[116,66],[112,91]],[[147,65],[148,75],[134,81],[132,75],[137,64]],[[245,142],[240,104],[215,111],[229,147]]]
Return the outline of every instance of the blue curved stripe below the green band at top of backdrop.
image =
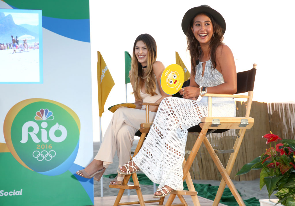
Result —
[[[71,39],[90,42],[89,19],[57,19],[42,16],[42,27]]]

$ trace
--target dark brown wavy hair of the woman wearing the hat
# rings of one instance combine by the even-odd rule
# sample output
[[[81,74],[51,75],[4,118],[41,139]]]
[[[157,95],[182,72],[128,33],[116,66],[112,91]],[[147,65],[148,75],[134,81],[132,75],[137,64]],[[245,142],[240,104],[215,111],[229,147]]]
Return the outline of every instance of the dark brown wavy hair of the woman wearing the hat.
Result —
[[[194,16],[194,18],[199,14],[205,14],[207,17],[210,18],[212,25],[213,25],[213,35],[209,42],[209,50],[210,50],[210,59],[212,62],[212,68],[216,68],[216,49],[219,45],[222,44],[223,40],[223,30],[222,27],[219,26],[219,24],[214,20],[212,15],[202,12],[198,13]],[[201,46],[198,40],[196,40],[193,31],[191,30],[191,27],[193,26],[194,18],[191,20],[191,23],[188,27],[188,32],[186,33],[186,39],[187,39],[187,50],[189,50],[189,53],[191,55],[191,65],[192,68],[196,67],[196,61],[200,59],[200,56],[202,55]],[[196,70],[192,70],[193,74],[196,74]]]

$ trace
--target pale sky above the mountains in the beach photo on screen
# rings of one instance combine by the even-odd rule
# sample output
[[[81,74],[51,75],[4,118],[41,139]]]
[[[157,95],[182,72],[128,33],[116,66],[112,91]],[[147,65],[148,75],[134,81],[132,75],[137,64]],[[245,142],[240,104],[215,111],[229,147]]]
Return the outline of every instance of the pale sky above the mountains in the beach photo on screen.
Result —
[[[30,24],[33,26],[39,25],[39,14],[30,13],[15,13],[15,12],[4,12],[4,15],[12,15],[13,21],[16,25]]]

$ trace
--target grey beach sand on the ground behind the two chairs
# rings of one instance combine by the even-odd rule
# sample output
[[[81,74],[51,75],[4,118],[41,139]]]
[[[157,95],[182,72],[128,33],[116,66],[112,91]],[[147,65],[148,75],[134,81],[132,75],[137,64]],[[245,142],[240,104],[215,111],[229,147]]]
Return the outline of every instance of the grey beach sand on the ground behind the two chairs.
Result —
[[[135,140],[132,151],[135,150],[136,144],[138,140]],[[99,149],[99,142],[94,142],[94,155],[96,155]],[[116,169],[118,167],[118,157],[115,155],[114,163],[106,169],[104,174],[112,174],[116,173]],[[139,173],[142,173],[139,171]],[[109,182],[112,179],[103,178],[103,196],[117,196],[119,189],[109,188]],[[193,180],[196,184],[211,184],[214,186],[218,186],[220,181],[218,180]],[[255,179],[252,181],[233,181],[235,187],[238,191],[241,192],[242,199],[249,199],[251,197],[256,197],[257,199],[268,199],[268,192],[266,186],[263,189],[259,190],[259,179]],[[142,194],[153,194],[154,189],[153,185],[141,185]],[[135,190],[130,190],[131,195],[135,195]],[[125,190],[124,195],[127,195],[127,190]],[[101,183],[94,181],[94,197],[101,197]],[[272,194],[270,199],[277,199],[277,197]]]

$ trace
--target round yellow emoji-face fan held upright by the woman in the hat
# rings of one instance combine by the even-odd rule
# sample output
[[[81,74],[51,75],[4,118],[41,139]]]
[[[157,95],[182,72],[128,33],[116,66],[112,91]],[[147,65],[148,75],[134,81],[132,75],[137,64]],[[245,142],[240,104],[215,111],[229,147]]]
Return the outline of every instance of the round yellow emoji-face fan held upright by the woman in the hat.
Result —
[[[184,81],[184,72],[178,64],[171,64],[163,71],[161,76],[161,87],[168,95],[177,93]]]

